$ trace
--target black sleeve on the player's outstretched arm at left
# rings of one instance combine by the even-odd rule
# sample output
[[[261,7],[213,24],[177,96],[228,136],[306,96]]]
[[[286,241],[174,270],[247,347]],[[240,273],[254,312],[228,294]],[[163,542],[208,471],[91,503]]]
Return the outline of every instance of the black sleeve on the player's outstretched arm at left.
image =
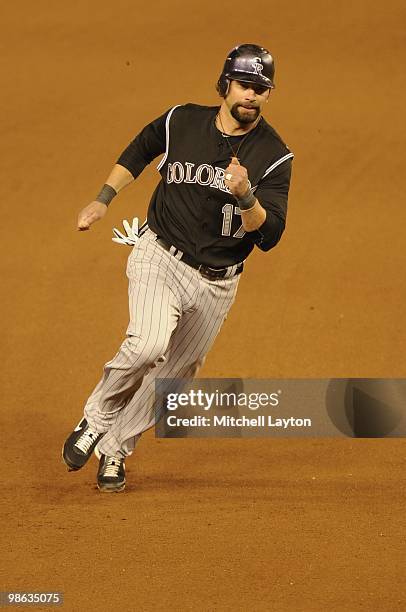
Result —
[[[166,118],[170,110],[149,123],[130,142],[117,160],[117,164],[127,168],[134,178],[141,174],[153,159],[166,149]]]

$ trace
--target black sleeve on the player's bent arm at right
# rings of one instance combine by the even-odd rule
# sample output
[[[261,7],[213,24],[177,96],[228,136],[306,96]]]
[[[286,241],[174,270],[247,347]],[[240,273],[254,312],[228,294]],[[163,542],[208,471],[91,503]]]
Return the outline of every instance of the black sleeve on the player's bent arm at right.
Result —
[[[255,244],[262,251],[272,249],[282,237],[286,223],[291,174],[292,158],[289,158],[265,176],[254,192],[266,210],[265,221],[252,232]]]

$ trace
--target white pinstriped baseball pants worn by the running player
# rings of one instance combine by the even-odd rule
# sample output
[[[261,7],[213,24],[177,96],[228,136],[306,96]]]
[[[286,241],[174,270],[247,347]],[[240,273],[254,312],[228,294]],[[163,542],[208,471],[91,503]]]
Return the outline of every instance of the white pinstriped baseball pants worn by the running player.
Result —
[[[157,377],[195,376],[237,293],[240,275],[207,280],[155,238],[148,228],[128,258],[127,337],[84,409],[89,425],[106,432],[98,444],[105,455],[130,455],[155,424]]]

